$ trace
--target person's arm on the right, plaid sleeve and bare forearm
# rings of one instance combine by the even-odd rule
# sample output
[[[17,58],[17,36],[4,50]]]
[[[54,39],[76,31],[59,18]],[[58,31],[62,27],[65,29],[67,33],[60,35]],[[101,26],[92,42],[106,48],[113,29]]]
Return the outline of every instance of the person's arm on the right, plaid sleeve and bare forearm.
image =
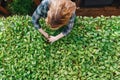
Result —
[[[60,34],[58,34],[57,36],[50,36],[49,42],[55,42],[70,33],[74,25],[75,16],[75,14],[72,15],[67,27]]]

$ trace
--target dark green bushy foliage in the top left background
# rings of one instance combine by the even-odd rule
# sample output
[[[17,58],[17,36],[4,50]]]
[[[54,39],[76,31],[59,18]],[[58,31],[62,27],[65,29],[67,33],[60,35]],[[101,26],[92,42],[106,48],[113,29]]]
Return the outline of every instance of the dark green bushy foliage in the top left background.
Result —
[[[33,0],[14,0],[8,4],[8,9],[12,14],[31,14],[35,5]]]

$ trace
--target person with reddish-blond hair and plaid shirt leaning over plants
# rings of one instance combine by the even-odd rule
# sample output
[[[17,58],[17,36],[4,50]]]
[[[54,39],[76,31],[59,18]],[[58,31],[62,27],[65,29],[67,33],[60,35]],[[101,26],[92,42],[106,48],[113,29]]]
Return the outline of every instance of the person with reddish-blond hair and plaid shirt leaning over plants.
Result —
[[[76,5],[71,0],[43,0],[32,15],[34,27],[49,41],[55,42],[71,32],[75,20]],[[49,36],[39,24],[39,19],[45,18],[50,29],[65,27],[56,36]]]

